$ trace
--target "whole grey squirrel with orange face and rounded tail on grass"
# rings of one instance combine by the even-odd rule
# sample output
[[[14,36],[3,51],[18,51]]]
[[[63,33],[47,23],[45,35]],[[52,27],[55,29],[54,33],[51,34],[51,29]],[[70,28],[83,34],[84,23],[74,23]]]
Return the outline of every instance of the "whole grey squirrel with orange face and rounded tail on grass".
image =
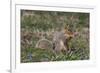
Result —
[[[70,51],[68,42],[76,35],[77,32],[71,32],[67,29],[64,29],[62,31],[55,31],[52,41],[48,39],[40,39],[36,44],[36,48],[52,49],[55,52],[68,52]]]

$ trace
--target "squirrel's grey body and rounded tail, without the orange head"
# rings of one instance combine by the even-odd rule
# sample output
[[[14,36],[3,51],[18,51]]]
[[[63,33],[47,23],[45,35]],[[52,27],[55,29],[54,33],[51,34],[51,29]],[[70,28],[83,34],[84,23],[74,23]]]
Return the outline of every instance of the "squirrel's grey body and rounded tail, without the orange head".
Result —
[[[55,52],[61,52],[62,50],[64,50],[67,52],[67,42],[67,34],[65,34],[63,31],[56,31],[53,34],[52,41],[49,41],[47,39],[40,39],[36,44],[36,48],[53,49]]]

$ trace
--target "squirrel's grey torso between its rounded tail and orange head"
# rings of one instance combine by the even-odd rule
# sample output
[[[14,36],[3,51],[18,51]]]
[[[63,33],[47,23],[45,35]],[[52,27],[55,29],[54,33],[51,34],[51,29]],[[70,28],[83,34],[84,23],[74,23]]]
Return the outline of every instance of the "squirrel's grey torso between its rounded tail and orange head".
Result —
[[[67,35],[64,34],[64,32],[55,32],[53,36],[53,49],[56,52],[60,52],[61,50],[67,51],[67,43],[66,40]]]

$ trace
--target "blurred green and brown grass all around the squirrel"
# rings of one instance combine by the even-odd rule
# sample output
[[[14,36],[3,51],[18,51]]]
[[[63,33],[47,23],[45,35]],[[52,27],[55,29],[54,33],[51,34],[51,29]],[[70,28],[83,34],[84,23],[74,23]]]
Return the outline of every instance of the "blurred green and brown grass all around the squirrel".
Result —
[[[20,17],[22,63],[89,59],[89,13],[21,10]],[[41,38],[52,41],[52,33],[65,26],[79,33],[69,42],[69,54],[35,48]]]

